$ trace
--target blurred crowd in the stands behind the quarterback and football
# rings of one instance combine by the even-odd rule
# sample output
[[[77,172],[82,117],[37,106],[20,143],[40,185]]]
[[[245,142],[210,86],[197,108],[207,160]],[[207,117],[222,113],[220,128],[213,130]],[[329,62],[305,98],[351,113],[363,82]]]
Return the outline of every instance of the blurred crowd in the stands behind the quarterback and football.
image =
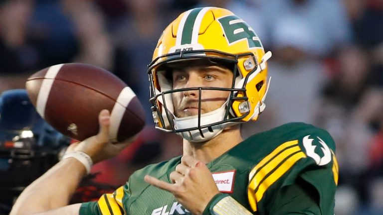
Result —
[[[303,121],[328,130],[340,166],[337,215],[383,214],[383,0],[0,0],[0,93],[45,67],[81,62],[125,81],[148,126],[93,168],[122,185],[148,163],[182,153],[153,129],[146,73],[162,30],[198,6],[233,11],[271,50],[267,108],[243,135]],[[101,172],[101,173],[100,173]]]

